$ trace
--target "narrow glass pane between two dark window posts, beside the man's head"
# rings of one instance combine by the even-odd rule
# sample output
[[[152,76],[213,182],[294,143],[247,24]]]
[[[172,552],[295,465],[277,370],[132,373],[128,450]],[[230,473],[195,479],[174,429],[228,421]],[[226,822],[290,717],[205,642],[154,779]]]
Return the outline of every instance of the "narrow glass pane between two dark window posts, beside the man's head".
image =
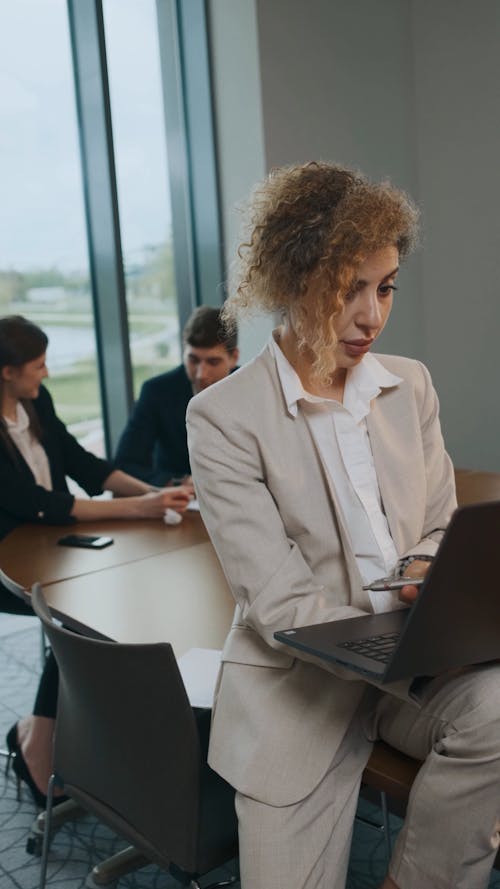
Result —
[[[105,0],[106,53],[134,391],[180,361],[154,0]]]

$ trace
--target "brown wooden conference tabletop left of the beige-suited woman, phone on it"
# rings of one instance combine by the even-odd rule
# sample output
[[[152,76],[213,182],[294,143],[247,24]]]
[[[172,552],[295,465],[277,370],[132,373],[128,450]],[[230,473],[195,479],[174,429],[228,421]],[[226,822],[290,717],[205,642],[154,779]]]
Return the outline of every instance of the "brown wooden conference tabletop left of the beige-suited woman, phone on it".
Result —
[[[72,534],[113,538],[105,549],[60,546]],[[0,541],[0,567],[29,590],[42,584],[65,625],[116,642],[221,649],[234,600],[197,512],[179,525],[154,519],[22,525]]]

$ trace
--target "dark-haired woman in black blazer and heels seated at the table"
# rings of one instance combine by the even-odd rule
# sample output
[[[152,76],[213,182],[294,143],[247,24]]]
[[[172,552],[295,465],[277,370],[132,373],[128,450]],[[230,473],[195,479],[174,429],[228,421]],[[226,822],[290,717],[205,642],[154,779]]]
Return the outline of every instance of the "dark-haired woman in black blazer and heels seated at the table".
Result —
[[[183,512],[192,496],[189,486],[153,491],[86,451],[68,432],[41,385],[48,375],[47,344],[44,332],[25,318],[0,318],[0,539],[23,522],[59,525],[106,518],[162,518],[168,508]],[[67,476],[90,497],[103,490],[118,497],[75,498],[68,490]],[[0,610],[33,613],[1,584]],[[41,806],[51,772],[57,685],[57,666],[49,655],[33,714],[12,726],[7,735],[18,780],[28,784]]]

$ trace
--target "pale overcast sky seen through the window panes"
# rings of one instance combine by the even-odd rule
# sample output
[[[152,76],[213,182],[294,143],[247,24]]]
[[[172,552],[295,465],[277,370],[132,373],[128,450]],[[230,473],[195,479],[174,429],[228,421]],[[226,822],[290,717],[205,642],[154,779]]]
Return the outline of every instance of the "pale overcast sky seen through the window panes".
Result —
[[[154,0],[104,0],[126,259],[170,229]],[[0,0],[0,271],[88,265],[66,0]]]

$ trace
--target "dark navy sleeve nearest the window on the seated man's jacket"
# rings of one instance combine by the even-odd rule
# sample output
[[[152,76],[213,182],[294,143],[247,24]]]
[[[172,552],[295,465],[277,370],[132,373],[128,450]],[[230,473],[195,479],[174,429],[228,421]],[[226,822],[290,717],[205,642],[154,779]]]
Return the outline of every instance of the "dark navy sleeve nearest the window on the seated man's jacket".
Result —
[[[151,383],[146,381],[118,442],[115,467],[150,485],[165,485],[172,474],[154,468],[158,436],[158,405]]]

